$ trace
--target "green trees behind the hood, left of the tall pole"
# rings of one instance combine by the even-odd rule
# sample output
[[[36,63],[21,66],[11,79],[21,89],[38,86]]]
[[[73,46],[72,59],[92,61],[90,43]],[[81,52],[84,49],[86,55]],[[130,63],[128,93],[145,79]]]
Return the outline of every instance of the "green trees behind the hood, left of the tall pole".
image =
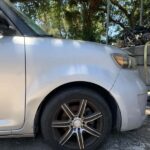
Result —
[[[16,6],[50,34],[100,41],[105,31],[102,0],[13,0]]]

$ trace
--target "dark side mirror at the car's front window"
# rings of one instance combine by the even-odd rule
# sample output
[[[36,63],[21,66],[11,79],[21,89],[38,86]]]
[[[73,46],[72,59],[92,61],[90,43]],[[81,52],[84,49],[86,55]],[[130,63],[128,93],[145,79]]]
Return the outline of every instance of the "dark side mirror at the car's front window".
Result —
[[[6,19],[0,17],[0,35],[12,36],[16,34],[16,30],[9,26]]]

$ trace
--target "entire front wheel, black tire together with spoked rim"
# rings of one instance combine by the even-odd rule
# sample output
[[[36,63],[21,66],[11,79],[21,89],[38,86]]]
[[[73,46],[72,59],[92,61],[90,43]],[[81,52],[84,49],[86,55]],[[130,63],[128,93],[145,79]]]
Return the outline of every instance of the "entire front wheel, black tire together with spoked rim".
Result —
[[[96,150],[111,128],[107,103],[88,88],[58,93],[49,100],[41,117],[42,135],[53,150]]]

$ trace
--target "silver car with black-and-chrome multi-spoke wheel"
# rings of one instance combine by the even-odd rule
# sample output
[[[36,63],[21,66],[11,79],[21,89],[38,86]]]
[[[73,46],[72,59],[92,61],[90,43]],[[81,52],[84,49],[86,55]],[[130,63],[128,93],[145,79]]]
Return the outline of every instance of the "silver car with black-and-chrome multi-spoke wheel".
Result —
[[[112,129],[139,128],[146,100],[126,52],[51,37],[0,1],[1,137],[41,132],[54,150],[94,150]]]

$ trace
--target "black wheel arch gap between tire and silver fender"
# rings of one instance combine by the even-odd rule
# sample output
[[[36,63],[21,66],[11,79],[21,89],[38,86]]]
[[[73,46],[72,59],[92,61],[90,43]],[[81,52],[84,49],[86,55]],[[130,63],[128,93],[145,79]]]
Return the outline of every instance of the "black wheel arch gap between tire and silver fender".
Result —
[[[67,83],[64,85],[61,85],[59,87],[57,87],[56,89],[54,89],[53,91],[51,91],[45,98],[44,100],[41,102],[36,115],[35,115],[35,119],[34,119],[34,133],[36,134],[38,131],[40,131],[40,118],[42,115],[42,112],[46,106],[46,104],[49,102],[49,100],[52,99],[52,97],[61,92],[64,89],[67,88],[75,88],[75,87],[83,87],[83,88],[89,88],[93,91],[96,91],[98,94],[100,94],[105,101],[107,102],[111,113],[112,113],[112,120],[113,120],[113,130],[117,130],[120,131],[121,129],[121,112],[120,112],[120,108],[116,102],[116,100],[113,98],[113,96],[103,87],[96,85],[94,83],[90,83],[90,82],[71,82],[71,83]]]

